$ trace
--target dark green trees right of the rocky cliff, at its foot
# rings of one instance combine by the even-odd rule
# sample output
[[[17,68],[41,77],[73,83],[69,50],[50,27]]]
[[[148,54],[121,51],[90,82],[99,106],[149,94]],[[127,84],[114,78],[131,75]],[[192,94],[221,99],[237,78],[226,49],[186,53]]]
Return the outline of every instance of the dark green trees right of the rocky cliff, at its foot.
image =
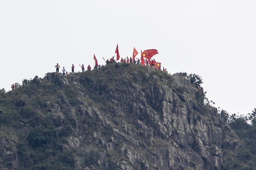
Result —
[[[228,123],[236,132],[243,145],[238,149],[236,155],[229,155],[231,151],[223,152],[223,169],[254,169],[256,162],[256,108],[247,115],[229,115],[225,110],[219,110],[220,118]],[[225,160],[226,159],[226,160]],[[227,164],[225,161],[228,161]],[[233,162],[233,164],[231,164]]]

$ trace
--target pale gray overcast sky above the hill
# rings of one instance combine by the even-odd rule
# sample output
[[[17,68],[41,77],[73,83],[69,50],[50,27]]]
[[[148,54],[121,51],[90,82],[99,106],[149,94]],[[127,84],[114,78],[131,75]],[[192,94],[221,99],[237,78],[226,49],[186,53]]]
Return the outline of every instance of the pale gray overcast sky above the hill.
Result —
[[[256,107],[256,2],[253,0],[0,0],[0,88],[71,71],[133,47],[157,49],[169,73],[199,74],[215,107]]]

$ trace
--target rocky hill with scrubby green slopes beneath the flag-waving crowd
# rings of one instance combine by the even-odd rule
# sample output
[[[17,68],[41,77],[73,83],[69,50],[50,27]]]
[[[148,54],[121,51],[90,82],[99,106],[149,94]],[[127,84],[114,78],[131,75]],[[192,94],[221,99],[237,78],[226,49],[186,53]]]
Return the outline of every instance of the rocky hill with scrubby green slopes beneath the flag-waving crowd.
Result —
[[[239,140],[180,74],[110,64],[0,96],[0,169],[222,169]]]

